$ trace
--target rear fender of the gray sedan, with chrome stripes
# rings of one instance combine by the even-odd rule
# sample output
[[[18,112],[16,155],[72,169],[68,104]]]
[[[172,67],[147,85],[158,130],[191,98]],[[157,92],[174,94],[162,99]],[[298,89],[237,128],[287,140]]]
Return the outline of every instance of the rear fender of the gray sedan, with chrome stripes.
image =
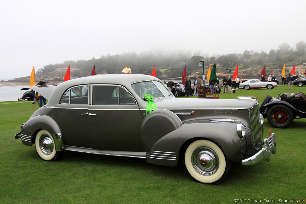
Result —
[[[55,150],[63,150],[62,131],[53,118],[47,115],[37,115],[31,117],[24,123],[21,129],[21,135],[24,135],[27,140],[22,140],[22,143],[27,146],[32,146],[35,143],[35,137],[39,130],[47,130],[54,139]]]

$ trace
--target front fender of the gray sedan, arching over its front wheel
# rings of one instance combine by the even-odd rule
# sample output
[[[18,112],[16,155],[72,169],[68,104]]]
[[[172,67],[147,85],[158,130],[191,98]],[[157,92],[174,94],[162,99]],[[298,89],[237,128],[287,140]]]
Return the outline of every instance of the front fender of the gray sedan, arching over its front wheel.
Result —
[[[246,142],[238,136],[237,123],[196,122],[183,124],[159,139],[147,153],[147,162],[176,166],[181,149],[198,139],[216,143],[230,161],[240,162],[244,159]]]

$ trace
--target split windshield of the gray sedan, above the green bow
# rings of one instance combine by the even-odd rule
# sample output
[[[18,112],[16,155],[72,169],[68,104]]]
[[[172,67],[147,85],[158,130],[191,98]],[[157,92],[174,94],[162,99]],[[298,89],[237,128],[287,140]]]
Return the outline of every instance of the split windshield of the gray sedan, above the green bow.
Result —
[[[169,89],[159,81],[143,81],[133,83],[132,89],[140,98],[144,98],[144,95],[150,94],[153,97],[165,97],[171,96]]]

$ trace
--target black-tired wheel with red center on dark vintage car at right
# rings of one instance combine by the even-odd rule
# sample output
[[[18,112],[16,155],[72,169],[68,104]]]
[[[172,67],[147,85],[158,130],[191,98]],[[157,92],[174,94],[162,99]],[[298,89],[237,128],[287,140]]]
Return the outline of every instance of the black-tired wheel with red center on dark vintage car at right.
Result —
[[[274,128],[288,128],[293,122],[294,114],[288,106],[277,104],[268,109],[267,119]]]

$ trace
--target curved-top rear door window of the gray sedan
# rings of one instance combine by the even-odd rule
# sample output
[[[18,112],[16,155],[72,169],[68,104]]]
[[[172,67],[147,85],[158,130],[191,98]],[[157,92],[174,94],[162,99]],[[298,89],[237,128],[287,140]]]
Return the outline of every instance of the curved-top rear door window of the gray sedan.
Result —
[[[62,104],[88,104],[88,86],[70,88],[64,94]]]

